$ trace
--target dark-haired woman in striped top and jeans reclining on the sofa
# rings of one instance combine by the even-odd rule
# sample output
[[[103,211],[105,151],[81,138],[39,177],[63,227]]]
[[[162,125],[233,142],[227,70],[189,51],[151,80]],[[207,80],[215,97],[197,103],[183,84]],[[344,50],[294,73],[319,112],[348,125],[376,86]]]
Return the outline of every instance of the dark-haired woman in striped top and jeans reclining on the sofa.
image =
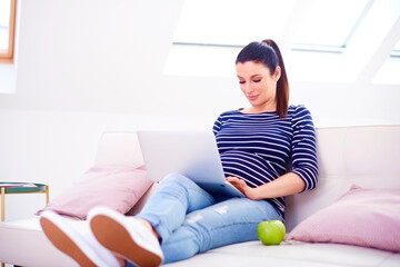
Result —
[[[221,113],[213,131],[227,179],[246,197],[210,195],[170,175],[134,218],[92,209],[87,236],[44,212],[41,225],[49,239],[81,266],[159,266],[256,240],[260,221],[283,220],[283,197],[317,184],[311,115],[288,106],[288,78],[274,41],[249,43],[236,69],[250,107]]]

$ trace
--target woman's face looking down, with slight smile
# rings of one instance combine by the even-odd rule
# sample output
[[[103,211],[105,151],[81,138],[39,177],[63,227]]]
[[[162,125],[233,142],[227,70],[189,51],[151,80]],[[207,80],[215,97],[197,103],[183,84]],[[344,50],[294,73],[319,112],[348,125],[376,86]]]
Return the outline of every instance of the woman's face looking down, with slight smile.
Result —
[[[280,67],[274,73],[263,63],[247,61],[237,63],[237,75],[240,89],[249,100],[254,112],[276,111],[277,81],[280,78]]]

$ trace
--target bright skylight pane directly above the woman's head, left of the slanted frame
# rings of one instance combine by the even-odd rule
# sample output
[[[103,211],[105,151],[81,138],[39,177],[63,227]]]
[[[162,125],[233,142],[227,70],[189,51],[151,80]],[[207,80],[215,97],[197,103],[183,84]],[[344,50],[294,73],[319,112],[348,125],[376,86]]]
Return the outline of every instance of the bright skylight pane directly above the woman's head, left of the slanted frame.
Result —
[[[296,0],[186,0],[173,38],[179,44],[244,46],[277,38]]]

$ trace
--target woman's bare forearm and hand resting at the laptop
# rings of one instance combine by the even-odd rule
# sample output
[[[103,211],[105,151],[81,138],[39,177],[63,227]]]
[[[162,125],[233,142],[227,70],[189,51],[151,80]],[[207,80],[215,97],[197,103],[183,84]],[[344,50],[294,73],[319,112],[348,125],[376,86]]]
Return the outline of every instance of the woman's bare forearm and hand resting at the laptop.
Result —
[[[301,192],[306,182],[294,172],[288,172],[273,181],[251,188],[243,180],[237,177],[227,177],[227,180],[238,188],[247,198],[252,200],[263,198],[286,197]]]

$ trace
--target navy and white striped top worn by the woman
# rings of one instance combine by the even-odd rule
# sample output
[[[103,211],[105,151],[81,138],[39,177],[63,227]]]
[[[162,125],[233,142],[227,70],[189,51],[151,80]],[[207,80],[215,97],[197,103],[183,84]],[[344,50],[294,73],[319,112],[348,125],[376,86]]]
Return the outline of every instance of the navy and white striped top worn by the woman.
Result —
[[[223,112],[213,126],[226,176],[243,179],[258,187],[288,171],[301,177],[304,190],[318,180],[316,131],[310,111],[303,106],[290,106],[288,116],[277,112]],[[283,216],[283,197],[267,199]]]

